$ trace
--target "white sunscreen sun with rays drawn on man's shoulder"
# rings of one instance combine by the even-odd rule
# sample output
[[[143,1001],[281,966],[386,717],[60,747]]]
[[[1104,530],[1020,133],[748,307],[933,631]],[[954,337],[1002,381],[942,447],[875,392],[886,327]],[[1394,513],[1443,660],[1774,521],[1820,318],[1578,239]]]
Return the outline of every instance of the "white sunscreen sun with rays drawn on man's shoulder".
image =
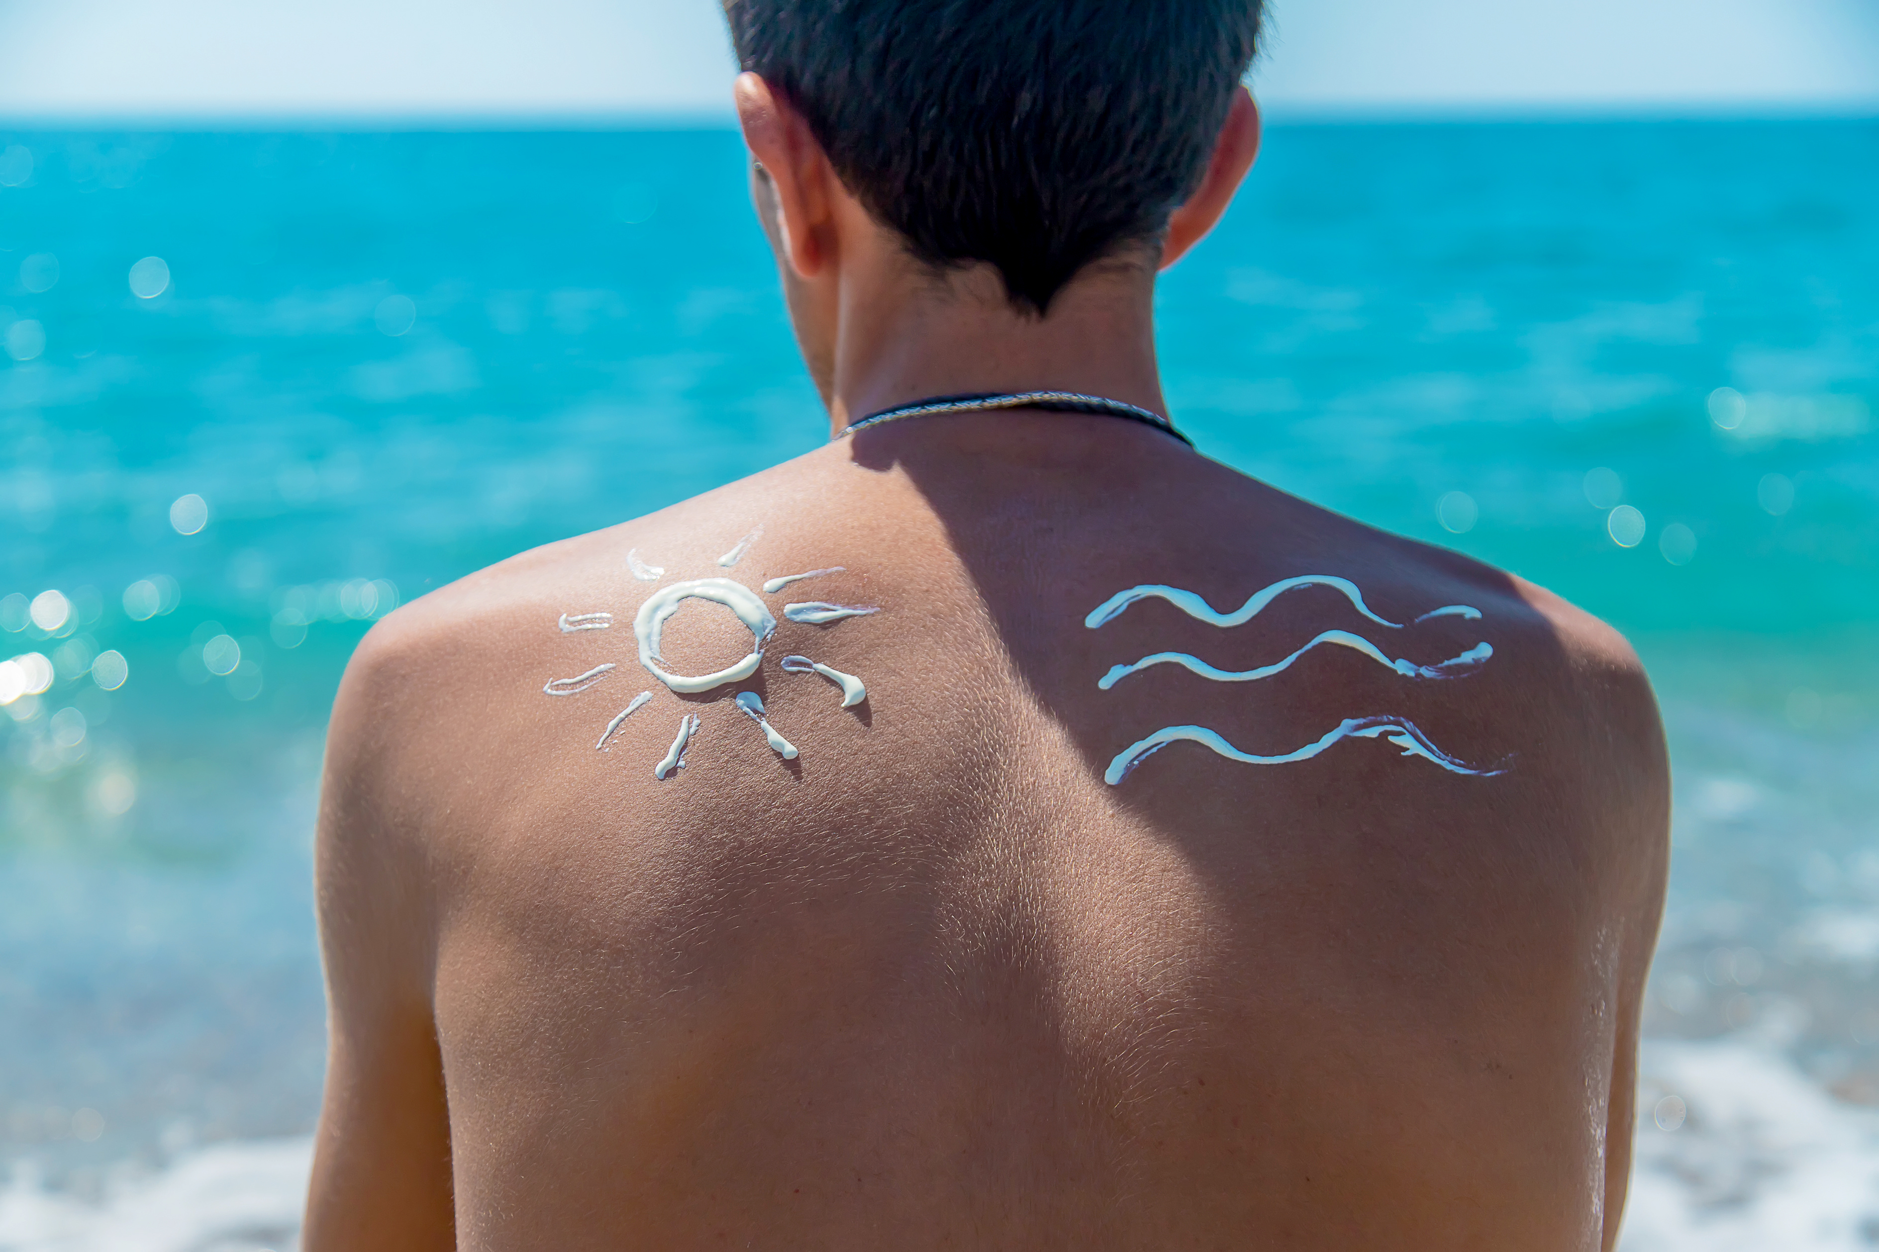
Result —
[[[744,559],[744,554],[763,537],[763,527],[753,527],[744,535],[737,546],[718,557],[718,565],[723,569],[733,569]],[[658,582],[665,576],[665,569],[660,565],[648,565],[641,559],[639,550],[633,548],[626,554],[626,567],[631,576],[639,582]],[[776,595],[784,588],[804,582],[808,578],[823,578],[827,574],[846,573],[842,565],[831,565],[829,569],[812,569],[800,574],[784,574],[782,578],[770,578],[763,584],[765,595]],[[744,657],[722,670],[710,674],[675,674],[667,668],[667,661],[660,655],[660,644],[665,634],[665,623],[671,621],[673,614],[684,601],[708,601],[712,604],[722,604],[731,610],[731,614],[750,631],[750,651]],[[829,601],[802,601],[785,603],[784,608],[785,621],[799,621],[804,625],[832,625],[847,618],[866,618],[877,614],[879,608],[859,606],[859,604],[831,604]],[[560,631],[562,634],[577,634],[582,631],[611,631],[614,625],[611,612],[584,612],[584,614],[562,614]],[[639,642],[639,664],[658,679],[663,687],[682,695],[699,695],[714,691],[718,687],[733,687],[757,674],[763,668],[763,653],[769,648],[770,638],[776,634],[776,618],[770,614],[769,604],[763,597],[746,588],[742,582],[725,576],[710,578],[686,578],[680,582],[658,588],[652,595],[641,603],[639,612],[633,616],[633,634]],[[620,664],[609,661],[598,664],[584,674],[575,674],[573,678],[556,678],[549,681],[541,693],[549,696],[577,696],[594,687],[601,685],[618,672]],[[842,708],[855,708],[868,698],[868,687],[853,674],[844,674],[834,666],[821,664],[802,655],[789,655],[782,659],[780,666],[785,674],[815,674],[819,678],[834,683],[842,693]],[[652,704],[652,691],[641,691],[628,702],[613,721],[601,730],[599,740],[594,743],[596,751],[611,751],[611,743],[618,734],[626,719],[639,710]],[[733,702],[742,717],[755,723],[757,732],[763,734],[765,743],[782,756],[784,760],[795,760],[800,753],[797,745],[791,743],[776,726],[770,725],[769,715],[763,708],[763,696],[755,691],[737,693]],[[678,775],[686,768],[686,753],[690,751],[693,740],[697,740],[703,728],[703,717],[695,711],[686,711],[678,717],[678,732],[673,738],[673,745],[665,751],[665,756],[652,768],[652,777],[658,781],[667,781]]]

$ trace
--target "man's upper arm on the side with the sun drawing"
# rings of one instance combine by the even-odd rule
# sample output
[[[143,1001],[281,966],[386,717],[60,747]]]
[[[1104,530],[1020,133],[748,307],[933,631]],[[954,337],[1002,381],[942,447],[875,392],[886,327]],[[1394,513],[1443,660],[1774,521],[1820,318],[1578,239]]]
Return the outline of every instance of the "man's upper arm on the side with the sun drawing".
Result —
[[[329,1053],[306,1252],[455,1246],[430,884],[410,800],[423,779],[398,751],[419,649],[400,627],[387,619],[359,646],[327,738],[316,884]]]

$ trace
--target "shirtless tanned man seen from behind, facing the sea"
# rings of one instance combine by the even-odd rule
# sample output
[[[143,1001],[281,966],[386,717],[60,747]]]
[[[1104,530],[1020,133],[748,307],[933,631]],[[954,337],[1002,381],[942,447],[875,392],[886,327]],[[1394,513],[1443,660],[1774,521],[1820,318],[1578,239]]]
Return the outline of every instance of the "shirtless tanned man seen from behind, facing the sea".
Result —
[[[1163,422],[1257,0],[729,17],[834,437],[359,649],[304,1246],[1608,1248],[1637,659]]]

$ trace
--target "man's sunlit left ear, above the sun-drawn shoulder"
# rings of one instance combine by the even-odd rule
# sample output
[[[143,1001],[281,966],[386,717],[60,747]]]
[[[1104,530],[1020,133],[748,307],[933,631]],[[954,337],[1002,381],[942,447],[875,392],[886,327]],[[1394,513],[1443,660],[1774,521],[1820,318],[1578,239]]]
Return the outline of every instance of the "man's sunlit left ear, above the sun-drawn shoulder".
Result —
[[[759,75],[737,75],[733,94],[744,143],[757,161],[753,197],[763,229],[789,268],[815,278],[832,255],[834,169],[802,115]]]

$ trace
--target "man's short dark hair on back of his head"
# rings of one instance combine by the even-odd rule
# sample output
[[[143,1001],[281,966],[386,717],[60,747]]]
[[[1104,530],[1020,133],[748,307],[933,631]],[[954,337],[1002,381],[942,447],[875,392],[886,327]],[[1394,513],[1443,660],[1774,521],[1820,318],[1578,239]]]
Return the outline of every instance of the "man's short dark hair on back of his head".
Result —
[[[1263,0],[723,0],[744,69],[936,268],[1043,315],[1199,186]]]

